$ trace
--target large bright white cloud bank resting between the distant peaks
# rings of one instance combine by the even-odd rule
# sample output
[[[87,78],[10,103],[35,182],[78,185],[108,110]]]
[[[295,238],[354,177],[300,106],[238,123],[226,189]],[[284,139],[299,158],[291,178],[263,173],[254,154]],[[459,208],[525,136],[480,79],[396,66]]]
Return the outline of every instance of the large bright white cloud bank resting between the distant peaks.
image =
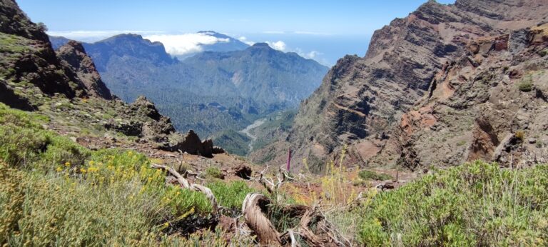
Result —
[[[229,39],[220,39],[208,34],[158,34],[145,36],[151,41],[160,41],[166,46],[168,54],[186,55],[203,51],[203,45],[229,42]]]

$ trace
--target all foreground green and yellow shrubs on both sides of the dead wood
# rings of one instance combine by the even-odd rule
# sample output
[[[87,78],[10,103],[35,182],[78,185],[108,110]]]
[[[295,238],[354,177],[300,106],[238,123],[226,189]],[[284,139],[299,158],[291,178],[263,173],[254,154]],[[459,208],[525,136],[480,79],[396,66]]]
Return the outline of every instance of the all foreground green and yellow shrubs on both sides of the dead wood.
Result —
[[[165,186],[166,173],[151,168],[141,153],[91,151],[41,128],[47,121],[0,105],[0,243],[226,243],[220,230],[203,233],[201,239],[168,234],[213,217],[203,194]],[[357,219],[355,236],[349,237],[366,246],[542,245],[548,237],[548,166],[512,170],[477,161],[435,171],[394,191],[373,189],[362,199],[326,197],[347,186],[345,174],[334,168],[322,178],[320,194],[289,193],[283,201],[318,203],[323,197],[320,206],[333,222]],[[240,182],[206,186],[220,205],[231,208],[226,211],[230,216],[253,191]],[[329,213],[328,206],[334,205],[344,207]],[[290,218],[280,220],[290,227]]]

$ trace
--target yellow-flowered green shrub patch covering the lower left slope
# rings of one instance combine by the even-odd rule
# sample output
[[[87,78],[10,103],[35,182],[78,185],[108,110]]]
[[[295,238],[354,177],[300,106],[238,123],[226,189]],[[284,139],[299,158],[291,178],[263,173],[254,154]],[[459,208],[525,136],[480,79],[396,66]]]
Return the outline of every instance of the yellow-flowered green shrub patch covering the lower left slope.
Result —
[[[44,120],[0,105],[0,245],[196,243],[163,236],[210,220],[202,193],[166,186],[141,153],[90,151],[42,129]]]

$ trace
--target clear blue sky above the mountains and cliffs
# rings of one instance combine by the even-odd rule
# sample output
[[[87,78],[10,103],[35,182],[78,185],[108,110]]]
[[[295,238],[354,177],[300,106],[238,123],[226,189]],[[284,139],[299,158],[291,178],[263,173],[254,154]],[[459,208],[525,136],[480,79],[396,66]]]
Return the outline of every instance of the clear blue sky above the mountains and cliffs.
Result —
[[[268,42],[331,66],[345,54],[364,56],[373,31],[405,17],[427,0],[19,0],[49,34],[98,41],[121,33],[171,39],[166,49],[212,42],[196,35],[213,30],[248,44]],[[455,0],[437,0],[452,4]],[[181,41],[187,37],[188,40]],[[154,40],[153,40],[154,41]],[[176,42],[177,41],[177,42]],[[185,46],[185,47],[183,47]],[[190,49],[190,48],[189,48]],[[181,54],[175,54],[181,55]]]

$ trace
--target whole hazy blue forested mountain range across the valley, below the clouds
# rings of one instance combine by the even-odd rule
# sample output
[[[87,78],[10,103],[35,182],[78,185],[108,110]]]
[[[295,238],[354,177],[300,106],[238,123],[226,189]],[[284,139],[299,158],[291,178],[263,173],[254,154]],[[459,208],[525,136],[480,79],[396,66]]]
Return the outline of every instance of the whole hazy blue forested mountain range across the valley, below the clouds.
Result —
[[[83,46],[116,96],[131,102],[145,95],[171,116],[177,129],[193,129],[201,136],[239,130],[275,111],[296,108],[328,71],[312,59],[265,43],[248,46],[213,31],[199,34],[227,42],[204,46],[205,51],[181,61],[160,42],[136,34]],[[54,47],[68,41],[50,39]]]

